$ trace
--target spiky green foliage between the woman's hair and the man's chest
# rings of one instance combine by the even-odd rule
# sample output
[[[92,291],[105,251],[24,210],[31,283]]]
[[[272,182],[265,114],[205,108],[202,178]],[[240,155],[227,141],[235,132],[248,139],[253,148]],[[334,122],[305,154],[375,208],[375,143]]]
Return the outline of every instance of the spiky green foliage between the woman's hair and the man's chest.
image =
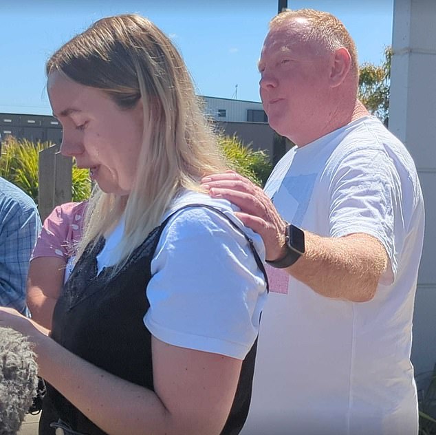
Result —
[[[272,171],[272,164],[264,151],[253,151],[237,136],[219,136],[219,146],[234,171],[263,187]]]

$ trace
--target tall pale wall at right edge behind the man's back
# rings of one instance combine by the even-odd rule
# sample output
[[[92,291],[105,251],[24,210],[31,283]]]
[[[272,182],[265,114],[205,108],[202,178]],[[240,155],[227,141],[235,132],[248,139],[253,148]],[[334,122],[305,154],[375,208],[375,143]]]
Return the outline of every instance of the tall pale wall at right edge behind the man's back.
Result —
[[[436,1],[394,0],[389,129],[411,152],[426,204],[412,361],[415,374],[436,362]]]

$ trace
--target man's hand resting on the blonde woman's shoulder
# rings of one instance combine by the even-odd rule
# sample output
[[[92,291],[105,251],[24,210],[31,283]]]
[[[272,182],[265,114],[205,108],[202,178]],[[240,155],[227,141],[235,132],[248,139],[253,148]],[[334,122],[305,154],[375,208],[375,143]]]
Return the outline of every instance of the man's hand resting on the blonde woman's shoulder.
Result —
[[[261,235],[268,260],[285,255],[286,222],[260,187],[235,171],[204,177],[201,185],[212,198],[224,198],[241,209],[235,215]]]

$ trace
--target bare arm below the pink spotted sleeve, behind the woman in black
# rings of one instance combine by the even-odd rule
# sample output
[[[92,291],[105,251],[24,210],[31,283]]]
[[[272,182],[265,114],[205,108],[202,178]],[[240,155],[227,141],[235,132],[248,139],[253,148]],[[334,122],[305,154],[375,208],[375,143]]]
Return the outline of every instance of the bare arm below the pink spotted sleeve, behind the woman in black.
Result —
[[[48,329],[52,329],[53,310],[61,294],[64,274],[63,257],[37,257],[30,262],[28,308],[32,319]]]

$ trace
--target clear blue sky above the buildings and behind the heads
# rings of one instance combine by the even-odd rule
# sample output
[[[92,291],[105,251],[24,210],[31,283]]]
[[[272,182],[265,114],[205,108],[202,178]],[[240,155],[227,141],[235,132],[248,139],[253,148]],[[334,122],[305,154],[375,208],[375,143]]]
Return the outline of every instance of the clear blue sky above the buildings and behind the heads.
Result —
[[[198,94],[259,101],[257,60],[277,0],[0,0],[0,112],[50,114],[47,58],[101,17],[138,12],[171,37]],[[379,64],[391,44],[393,0],[288,0],[336,15],[359,61]]]

